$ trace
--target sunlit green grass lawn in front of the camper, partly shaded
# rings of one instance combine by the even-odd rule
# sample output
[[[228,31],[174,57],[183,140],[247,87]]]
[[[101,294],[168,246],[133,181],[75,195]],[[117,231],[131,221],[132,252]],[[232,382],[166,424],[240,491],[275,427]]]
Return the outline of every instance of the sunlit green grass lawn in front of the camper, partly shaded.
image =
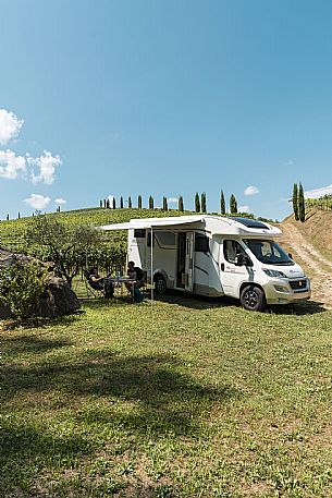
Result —
[[[332,496],[331,332],[179,295],[2,323],[0,496]]]

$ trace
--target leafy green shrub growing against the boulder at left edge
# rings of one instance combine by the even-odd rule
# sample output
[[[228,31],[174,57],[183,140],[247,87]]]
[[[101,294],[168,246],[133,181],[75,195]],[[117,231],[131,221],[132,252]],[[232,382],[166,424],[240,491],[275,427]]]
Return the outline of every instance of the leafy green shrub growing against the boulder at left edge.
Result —
[[[45,292],[48,270],[36,264],[17,262],[0,270],[0,303],[14,316],[38,315],[38,299]]]

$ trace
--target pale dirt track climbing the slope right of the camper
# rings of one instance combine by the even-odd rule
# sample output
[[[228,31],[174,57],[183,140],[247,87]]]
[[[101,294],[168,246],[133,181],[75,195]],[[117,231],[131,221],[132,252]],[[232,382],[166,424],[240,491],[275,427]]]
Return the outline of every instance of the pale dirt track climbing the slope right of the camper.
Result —
[[[295,222],[282,224],[281,244],[290,248],[294,259],[299,263],[311,280],[311,300],[332,308],[332,263],[309,244],[297,229]]]

